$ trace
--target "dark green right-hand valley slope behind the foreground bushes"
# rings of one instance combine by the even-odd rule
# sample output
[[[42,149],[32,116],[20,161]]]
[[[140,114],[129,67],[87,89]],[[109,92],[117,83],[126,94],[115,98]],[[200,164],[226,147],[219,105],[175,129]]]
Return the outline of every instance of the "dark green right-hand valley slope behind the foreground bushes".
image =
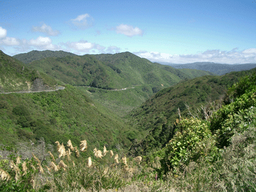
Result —
[[[145,155],[153,149],[162,148],[174,135],[174,122],[179,117],[178,108],[183,117],[191,116],[185,105],[189,106],[190,112],[194,115],[201,106],[213,109],[220,103],[218,100],[224,97],[228,87],[237,82],[239,77],[252,74],[255,70],[232,72],[222,76],[197,77],[155,94],[130,113],[131,125],[145,133],[144,140],[132,145],[130,154]]]

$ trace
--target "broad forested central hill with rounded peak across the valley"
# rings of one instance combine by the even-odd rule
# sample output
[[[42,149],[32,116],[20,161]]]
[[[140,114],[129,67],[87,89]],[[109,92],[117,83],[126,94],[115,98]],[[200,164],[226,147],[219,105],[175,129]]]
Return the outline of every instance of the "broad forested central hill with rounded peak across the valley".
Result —
[[[130,52],[47,57],[28,65],[67,84],[103,89],[149,85],[150,89],[160,90],[183,79],[210,74],[204,71],[182,72],[167,65],[154,64]]]

